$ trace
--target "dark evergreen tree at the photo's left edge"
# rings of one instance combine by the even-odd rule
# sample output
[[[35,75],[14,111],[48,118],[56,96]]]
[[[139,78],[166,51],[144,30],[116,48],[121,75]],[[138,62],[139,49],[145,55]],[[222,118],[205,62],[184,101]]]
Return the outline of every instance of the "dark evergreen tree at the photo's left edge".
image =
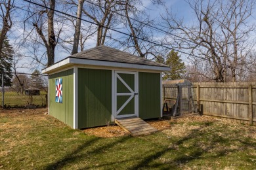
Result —
[[[12,49],[9,39],[5,37],[3,41],[3,48],[1,51],[0,58],[0,74],[4,73],[4,86],[11,86],[12,82],[12,60],[13,60],[14,50]],[[0,76],[0,86],[2,86],[2,75]]]

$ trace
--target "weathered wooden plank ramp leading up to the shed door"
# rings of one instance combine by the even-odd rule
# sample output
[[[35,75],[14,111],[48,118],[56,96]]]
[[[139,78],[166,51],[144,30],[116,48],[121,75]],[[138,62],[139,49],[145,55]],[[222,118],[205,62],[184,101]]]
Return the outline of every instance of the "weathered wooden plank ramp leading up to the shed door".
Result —
[[[146,135],[155,131],[158,131],[155,127],[150,126],[144,120],[138,117],[129,118],[116,118],[115,122],[118,126],[122,127],[125,131],[128,131],[133,136]]]

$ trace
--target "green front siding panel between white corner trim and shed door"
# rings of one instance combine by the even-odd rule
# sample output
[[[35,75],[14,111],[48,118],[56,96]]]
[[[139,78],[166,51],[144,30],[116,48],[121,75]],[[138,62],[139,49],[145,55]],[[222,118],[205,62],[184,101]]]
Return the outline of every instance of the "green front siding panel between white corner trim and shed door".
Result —
[[[78,69],[78,128],[106,125],[112,115],[112,71]]]

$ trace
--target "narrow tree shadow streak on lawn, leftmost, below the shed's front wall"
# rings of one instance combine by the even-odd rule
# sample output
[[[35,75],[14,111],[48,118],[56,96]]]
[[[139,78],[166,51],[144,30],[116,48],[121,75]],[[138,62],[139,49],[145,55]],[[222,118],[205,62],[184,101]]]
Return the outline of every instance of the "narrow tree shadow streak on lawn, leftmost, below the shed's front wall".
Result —
[[[60,159],[60,160],[58,160],[54,163],[51,163],[50,165],[47,165],[47,167],[45,167],[44,169],[48,169],[48,170],[50,170],[50,169],[62,169],[62,167],[64,167],[65,165],[68,165],[69,163],[75,162],[77,160],[81,160],[81,159],[83,159],[86,156],[89,156],[91,154],[98,154],[104,149],[112,148],[117,143],[123,143],[127,139],[129,139],[129,136],[122,137],[121,139],[118,139],[118,140],[116,140],[112,143],[107,143],[107,144],[104,144],[103,146],[97,147],[95,150],[90,150],[88,152],[83,153],[83,150],[85,148],[90,147],[95,142],[99,141],[100,139],[104,140],[100,137],[95,137],[94,139],[92,139],[90,141],[86,141],[85,143],[81,144],[77,149],[75,149],[72,153],[69,153],[64,158],[62,158],[62,159]],[[81,153],[81,154],[79,154],[79,153]]]

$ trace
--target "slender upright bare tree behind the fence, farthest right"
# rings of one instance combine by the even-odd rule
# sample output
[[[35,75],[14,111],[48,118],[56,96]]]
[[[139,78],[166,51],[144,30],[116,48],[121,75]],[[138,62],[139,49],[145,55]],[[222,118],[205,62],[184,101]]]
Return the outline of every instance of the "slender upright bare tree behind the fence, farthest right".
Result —
[[[220,16],[217,20],[224,35],[225,51],[222,54],[227,56],[232,82],[236,82],[236,67],[245,63],[245,57],[254,45],[248,41],[248,35],[255,29],[255,25],[247,24],[246,20],[252,14],[255,1],[233,0],[226,4],[221,1],[220,5]]]

